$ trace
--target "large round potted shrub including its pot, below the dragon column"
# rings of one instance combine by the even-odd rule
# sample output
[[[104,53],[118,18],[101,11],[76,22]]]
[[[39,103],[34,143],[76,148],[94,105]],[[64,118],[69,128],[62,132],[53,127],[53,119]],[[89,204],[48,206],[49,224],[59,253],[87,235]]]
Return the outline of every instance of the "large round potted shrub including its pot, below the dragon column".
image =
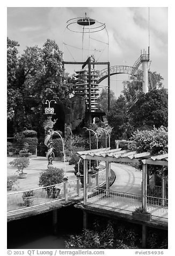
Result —
[[[45,189],[48,197],[57,198],[60,194],[60,189],[56,188],[55,185],[63,182],[63,176],[63,169],[51,166],[40,173],[39,186],[47,187]]]

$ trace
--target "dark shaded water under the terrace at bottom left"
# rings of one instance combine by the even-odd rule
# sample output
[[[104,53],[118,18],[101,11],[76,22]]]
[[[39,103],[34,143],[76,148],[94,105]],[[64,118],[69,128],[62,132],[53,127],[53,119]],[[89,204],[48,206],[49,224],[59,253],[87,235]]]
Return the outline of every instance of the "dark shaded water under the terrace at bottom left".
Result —
[[[8,223],[8,248],[54,249],[65,248],[65,240],[70,234],[81,232],[83,227],[82,211],[74,207],[58,211],[58,232],[53,234],[52,211]]]

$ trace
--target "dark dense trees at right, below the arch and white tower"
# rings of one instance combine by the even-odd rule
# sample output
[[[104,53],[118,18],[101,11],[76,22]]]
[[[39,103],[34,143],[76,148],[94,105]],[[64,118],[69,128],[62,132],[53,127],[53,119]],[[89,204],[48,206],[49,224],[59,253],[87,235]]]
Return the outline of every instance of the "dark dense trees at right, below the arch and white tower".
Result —
[[[126,97],[120,96],[107,114],[107,120],[114,128],[112,140],[130,139],[137,129],[145,130],[162,125],[167,127],[167,91],[162,88],[147,94],[140,93],[132,107],[128,105]]]

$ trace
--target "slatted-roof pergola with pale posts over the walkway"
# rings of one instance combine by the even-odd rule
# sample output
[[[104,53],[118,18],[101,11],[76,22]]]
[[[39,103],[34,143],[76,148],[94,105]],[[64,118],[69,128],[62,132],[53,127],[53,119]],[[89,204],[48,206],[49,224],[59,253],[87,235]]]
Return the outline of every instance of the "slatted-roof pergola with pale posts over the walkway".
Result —
[[[149,152],[137,153],[136,151],[121,150],[121,148],[99,148],[97,150],[88,150],[77,152],[79,157],[83,159],[84,165],[84,204],[88,200],[88,161],[105,161],[106,168],[106,189],[110,190],[110,163],[142,163],[142,207],[147,210],[147,181],[148,181],[148,165],[168,166],[168,155],[154,155]],[[165,198],[166,179],[162,178],[162,198]],[[164,206],[164,205],[163,205]]]

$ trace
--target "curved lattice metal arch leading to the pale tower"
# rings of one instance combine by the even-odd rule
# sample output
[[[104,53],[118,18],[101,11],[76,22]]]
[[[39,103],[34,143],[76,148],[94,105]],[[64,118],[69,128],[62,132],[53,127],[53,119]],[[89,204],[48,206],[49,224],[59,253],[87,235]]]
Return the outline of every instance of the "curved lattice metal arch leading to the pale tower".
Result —
[[[107,68],[100,70],[98,74],[97,83],[100,83],[101,81],[106,79],[106,77],[108,76],[107,72],[108,72]],[[142,79],[143,71],[141,69],[134,70],[134,67],[130,67],[130,66],[112,66],[110,68],[110,76],[116,75],[116,74],[128,74],[128,75],[137,76],[140,79]]]

